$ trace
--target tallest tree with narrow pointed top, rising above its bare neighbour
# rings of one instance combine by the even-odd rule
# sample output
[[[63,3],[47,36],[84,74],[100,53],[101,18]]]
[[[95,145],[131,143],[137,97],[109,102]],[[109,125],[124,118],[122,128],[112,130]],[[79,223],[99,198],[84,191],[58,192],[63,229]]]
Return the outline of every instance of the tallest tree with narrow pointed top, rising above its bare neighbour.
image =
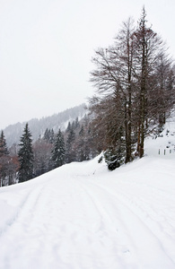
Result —
[[[153,97],[153,74],[156,62],[162,52],[162,39],[147,26],[146,13],[143,8],[138,27],[134,34],[135,38],[135,62],[137,81],[137,152],[139,157],[144,156],[144,138],[149,129],[148,117],[152,117]],[[150,100],[152,96],[152,100]]]

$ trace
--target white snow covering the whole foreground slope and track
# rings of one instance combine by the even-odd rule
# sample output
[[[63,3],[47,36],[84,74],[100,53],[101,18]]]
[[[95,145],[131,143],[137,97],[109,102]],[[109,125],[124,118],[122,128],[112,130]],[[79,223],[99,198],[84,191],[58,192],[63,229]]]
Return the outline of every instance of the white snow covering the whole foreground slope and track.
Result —
[[[0,269],[174,269],[174,132],[112,172],[97,157],[0,188]]]

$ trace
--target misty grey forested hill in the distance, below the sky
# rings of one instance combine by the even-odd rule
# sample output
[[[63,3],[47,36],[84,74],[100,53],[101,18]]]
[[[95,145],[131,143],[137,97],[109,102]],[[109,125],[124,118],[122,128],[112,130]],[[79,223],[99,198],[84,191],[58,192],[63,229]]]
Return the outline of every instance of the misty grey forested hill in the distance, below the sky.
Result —
[[[55,133],[57,133],[59,128],[61,130],[65,130],[69,121],[72,122],[76,117],[80,119],[85,115],[85,113],[85,104],[81,104],[49,117],[42,117],[40,119],[32,118],[28,121],[28,124],[33,141],[36,141],[40,135],[42,136],[47,128],[53,128]],[[7,126],[4,129],[4,135],[8,146],[11,146],[13,143],[19,143],[25,124],[26,122],[16,123],[14,125]]]

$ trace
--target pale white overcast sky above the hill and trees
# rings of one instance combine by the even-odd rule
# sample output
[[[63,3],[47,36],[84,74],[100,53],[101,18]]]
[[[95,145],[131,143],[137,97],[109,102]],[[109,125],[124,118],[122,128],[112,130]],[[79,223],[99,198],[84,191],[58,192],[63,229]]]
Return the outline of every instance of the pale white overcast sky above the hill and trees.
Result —
[[[175,0],[0,0],[0,129],[92,96],[94,50],[143,5],[175,55]]]

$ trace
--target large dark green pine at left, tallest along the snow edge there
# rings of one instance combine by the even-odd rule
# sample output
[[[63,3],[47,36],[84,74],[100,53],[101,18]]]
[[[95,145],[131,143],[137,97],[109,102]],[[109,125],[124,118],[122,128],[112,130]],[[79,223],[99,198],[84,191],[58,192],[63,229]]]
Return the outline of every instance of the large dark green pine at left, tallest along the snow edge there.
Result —
[[[29,130],[28,124],[26,124],[22,137],[20,151],[18,152],[18,157],[20,161],[19,169],[19,182],[23,182],[33,178],[33,151],[32,151],[32,139],[31,132]]]

